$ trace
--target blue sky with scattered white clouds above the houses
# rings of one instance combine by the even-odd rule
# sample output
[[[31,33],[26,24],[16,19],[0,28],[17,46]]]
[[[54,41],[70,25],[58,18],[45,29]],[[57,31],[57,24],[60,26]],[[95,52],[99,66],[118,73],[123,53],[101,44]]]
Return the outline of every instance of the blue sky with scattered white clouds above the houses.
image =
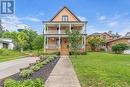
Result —
[[[88,34],[130,32],[130,0],[15,0],[15,15],[2,18],[2,23],[10,31],[27,25],[41,34],[42,21],[49,21],[64,6],[88,21]]]

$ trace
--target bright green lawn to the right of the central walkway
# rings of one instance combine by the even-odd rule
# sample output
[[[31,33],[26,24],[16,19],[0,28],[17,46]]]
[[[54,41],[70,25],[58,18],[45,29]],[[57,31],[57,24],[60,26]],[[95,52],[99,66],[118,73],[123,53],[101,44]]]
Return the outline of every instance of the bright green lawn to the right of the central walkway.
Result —
[[[130,87],[130,55],[89,52],[71,60],[82,87]]]

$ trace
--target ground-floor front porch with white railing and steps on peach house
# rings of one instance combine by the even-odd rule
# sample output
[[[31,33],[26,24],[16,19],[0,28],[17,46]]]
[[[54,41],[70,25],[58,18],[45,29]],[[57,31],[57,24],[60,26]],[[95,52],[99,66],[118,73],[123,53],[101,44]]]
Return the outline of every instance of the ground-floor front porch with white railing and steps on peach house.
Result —
[[[79,51],[85,51],[85,37],[82,37],[81,45],[79,46]],[[45,47],[44,52],[53,53],[60,52],[60,54],[69,54],[70,44],[68,41],[68,37],[46,37],[45,38]]]

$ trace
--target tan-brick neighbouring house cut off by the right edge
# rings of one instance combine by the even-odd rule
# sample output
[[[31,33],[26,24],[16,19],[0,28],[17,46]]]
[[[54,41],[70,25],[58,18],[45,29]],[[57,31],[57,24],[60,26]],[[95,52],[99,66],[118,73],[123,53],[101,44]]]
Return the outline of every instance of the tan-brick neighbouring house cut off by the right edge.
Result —
[[[130,32],[128,32],[125,36],[108,41],[107,42],[107,48],[109,51],[111,51],[112,46],[119,44],[119,43],[126,43],[130,45]],[[125,53],[130,54],[130,50],[125,51]]]

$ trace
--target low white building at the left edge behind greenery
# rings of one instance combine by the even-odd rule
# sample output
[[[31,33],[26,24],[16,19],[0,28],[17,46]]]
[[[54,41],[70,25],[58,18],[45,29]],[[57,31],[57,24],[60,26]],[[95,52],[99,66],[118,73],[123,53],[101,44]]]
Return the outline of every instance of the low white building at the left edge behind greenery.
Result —
[[[14,49],[13,40],[9,38],[0,38],[0,49],[6,48],[6,49]]]

